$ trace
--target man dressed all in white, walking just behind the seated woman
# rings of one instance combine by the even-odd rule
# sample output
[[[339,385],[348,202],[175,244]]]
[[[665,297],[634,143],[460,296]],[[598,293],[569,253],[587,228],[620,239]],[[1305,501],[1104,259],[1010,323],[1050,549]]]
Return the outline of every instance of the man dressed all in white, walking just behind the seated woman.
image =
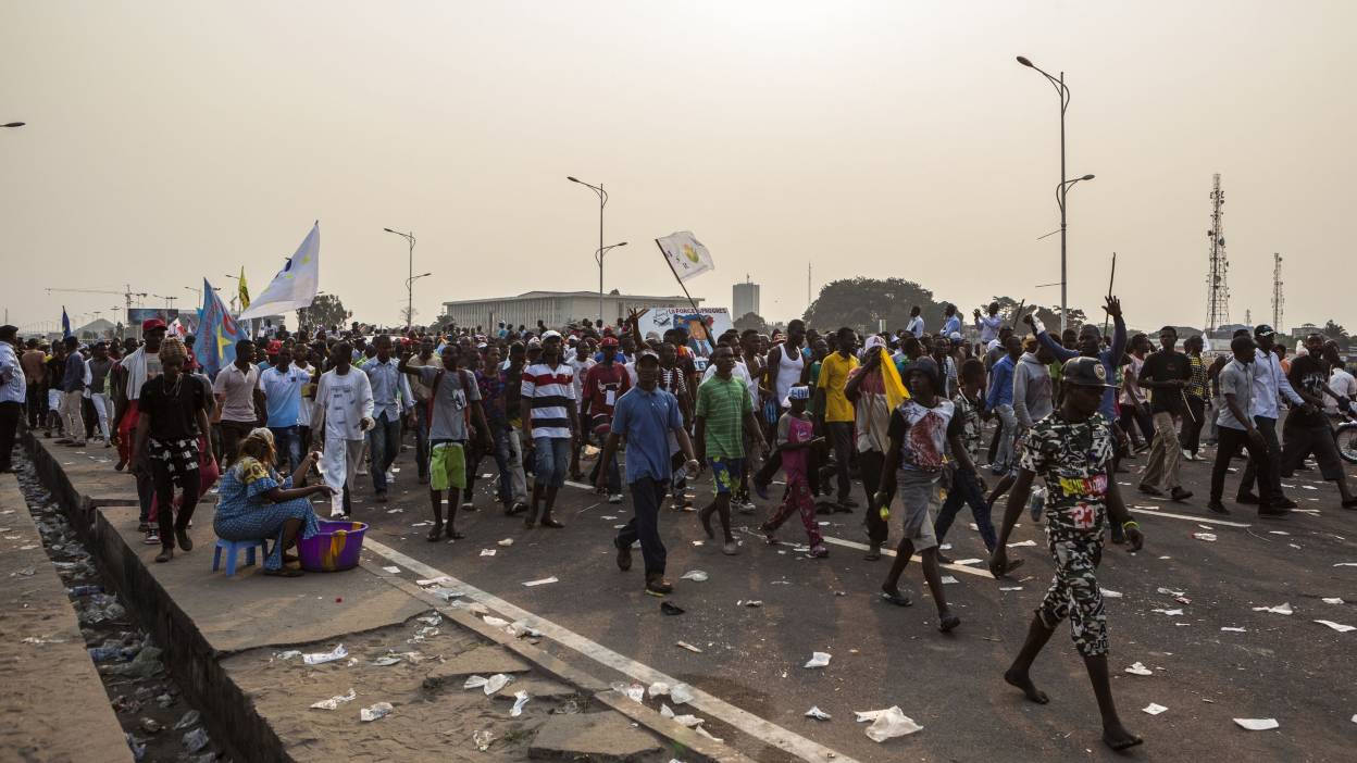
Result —
[[[364,436],[373,426],[375,406],[368,375],[353,369],[353,346],[339,342],[330,357],[334,368],[320,375],[311,421],[312,432],[322,433],[324,441],[320,475],[326,485],[343,496],[342,508],[331,501],[330,516],[347,517],[353,512],[353,486],[362,459]]]

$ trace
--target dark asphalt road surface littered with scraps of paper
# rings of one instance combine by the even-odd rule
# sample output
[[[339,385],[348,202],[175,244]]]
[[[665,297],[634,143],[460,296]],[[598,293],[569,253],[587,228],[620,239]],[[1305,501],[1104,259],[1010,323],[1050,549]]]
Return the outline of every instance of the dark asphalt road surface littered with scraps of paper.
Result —
[[[1027,559],[1020,581],[950,572],[957,582],[947,587],[949,597],[963,623],[942,635],[917,565],[905,577],[915,592],[913,607],[893,607],[875,596],[887,561],[867,562],[851,547],[862,540],[860,513],[821,517],[829,521],[822,528],[826,535],[848,546],[833,546],[828,559],[814,561],[790,543],[769,547],[748,535],[740,555],[725,557],[712,544],[695,544],[703,539],[695,515],[666,510],[662,532],[669,577],[677,587],[669,600],[687,614],[665,616],[658,600],[641,591],[639,554],[630,573],[613,563],[613,527],[626,521],[630,504],[609,505],[589,490],[566,487],[558,516],[567,527],[529,531],[520,519],[501,513],[486,481],[478,497],[480,510],[459,519],[467,539],[429,543],[423,539],[427,527],[415,527],[429,513],[427,493],[415,483],[411,459],[413,451],[398,460],[391,504],[372,502],[370,483],[360,489],[356,516],[372,524],[375,540],[825,745],[839,758],[1115,759],[1099,743],[1096,707],[1068,631],[1052,639],[1034,671],[1053,696],[1049,706],[1023,702],[1000,680],[1050,578],[1041,531],[1030,523],[1014,538],[1039,543],[1015,550]],[[1129,466],[1136,471],[1143,463]],[[493,468],[487,464],[483,472]],[[1335,566],[1357,562],[1357,512],[1339,509],[1337,491],[1316,482],[1318,472],[1299,472],[1286,482],[1295,486],[1289,491],[1316,513],[1258,520],[1238,506],[1228,519],[1244,527],[1227,525],[1204,509],[1209,462],[1185,464],[1185,477],[1198,497],[1179,505],[1144,500],[1130,487],[1136,475],[1121,475],[1129,501],[1143,506],[1137,519],[1148,542],[1139,554],[1109,547],[1099,574],[1103,588],[1124,593],[1107,600],[1107,612],[1114,691],[1126,724],[1145,737],[1134,756],[1350,759],[1357,744],[1352,720],[1357,714],[1357,631],[1337,633],[1312,620],[1357,625],[1357,566]],[[699,504],[707,490],[703,483]],[[737,515],[750,527],[761,516],[763,506],[754,517]],[[1193,532],[1213,532],[1217,540],[1198,540]],[[786,525],[782,536],[803,542],[797,523]],[[505,538],[514,543],[497,546]],[[953,558],[984,557],[978,535],[963,520],[949,540]],[[495,555],[482,557],[482,550]],[[704,570],[710,580],[680,580],[688,570]],[[522,585],[547,576],[559,582]],[[1000,591],[1016,585],[1022,589]],[[1160,587],[1183,592],[1191,603],[1158,593]],[[1348,604],[1326,604],[1322,597]],[[738,604],[749,599],[764,604]],[[1295,614],[1253,611],[1282,603]],[[1183,612],[1166,615],[1156,608]],[[697,645],[703,653],[680,649],[677,641]],[[620,677],[559,645],[555,650],[609,680]],[[833,654],[830,665],[803,668],[811,652]],[[1136,661],[1155,675],[1122,672]],[[1143,713],[1151,702],[1168,710],[1155,717]],[[803,717],[813,705],[833,720]],[[854,722],[854,711],[892,705],[924,730],[877,744],[864,736],[864,724]],[[1277,718],[1281,728],[1246,732],[1232,722],[1240,717]],[[716,720],[707,728],[759,759],[791,759]]]

